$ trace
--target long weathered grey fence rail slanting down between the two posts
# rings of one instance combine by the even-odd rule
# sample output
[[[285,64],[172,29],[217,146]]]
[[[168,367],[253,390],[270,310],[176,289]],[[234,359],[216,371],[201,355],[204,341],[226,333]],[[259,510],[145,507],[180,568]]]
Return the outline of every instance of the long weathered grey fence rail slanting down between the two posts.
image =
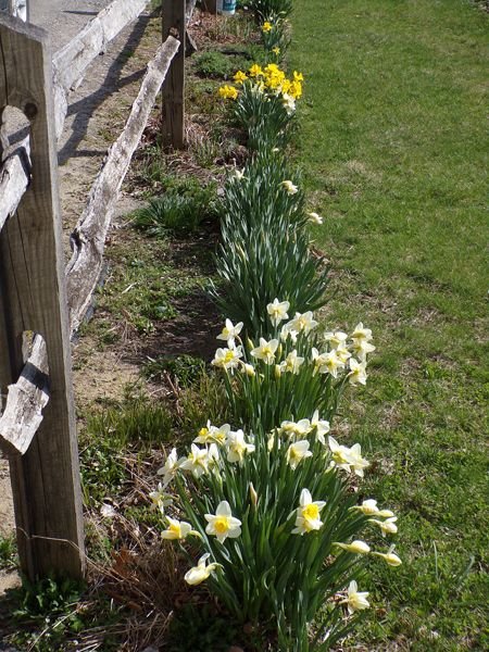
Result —
[[[124,131],[110,148],[87,206],[72,235],[73,255],[66,267],[70,324],[75,330],[91,301],[102,268],[106,233],[130,159],[139,143],[158,92],[179,41],[170,36],[148,65]]]

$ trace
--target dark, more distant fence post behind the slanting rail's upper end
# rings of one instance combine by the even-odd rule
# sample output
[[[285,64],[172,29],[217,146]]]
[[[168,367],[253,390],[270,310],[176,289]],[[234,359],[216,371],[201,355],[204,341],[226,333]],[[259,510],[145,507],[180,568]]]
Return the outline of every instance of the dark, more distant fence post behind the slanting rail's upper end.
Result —
[[[162,36],[168,35],[180,41],[178,52],[163,84],[163,145],[181,149],[185,140],[185,33],[187,29],[186,1],[163,0]]]

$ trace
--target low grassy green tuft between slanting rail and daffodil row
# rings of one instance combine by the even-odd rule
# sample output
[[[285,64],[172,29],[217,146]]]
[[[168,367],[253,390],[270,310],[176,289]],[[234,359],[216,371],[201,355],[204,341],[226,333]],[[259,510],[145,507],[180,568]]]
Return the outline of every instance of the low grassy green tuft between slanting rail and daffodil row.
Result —
[[[164,238],[168,233],[195,233],[204,221],[220,214],[215,186],[202,187],[197,179],[168,185],[149,205],[136,211],[133,224],[150,236]]]

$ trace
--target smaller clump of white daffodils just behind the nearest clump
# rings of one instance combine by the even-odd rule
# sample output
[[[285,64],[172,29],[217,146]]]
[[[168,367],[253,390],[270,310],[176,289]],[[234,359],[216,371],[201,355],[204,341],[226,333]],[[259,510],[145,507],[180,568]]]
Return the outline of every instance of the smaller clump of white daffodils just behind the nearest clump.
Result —
[[[290,416],[302,423],[315,410],[330,422],[346,389],[366,385],[367,359],[375,351],[372,330],[360,322],[350,334],[319,333],[311,311],[292,313],[290,303],[277,298],[267,304],[266,314],[266,338],[241,339],[242,324],[234,326],[229,319],[217,336],[227,346],[216,350],[212,364],[225,372],[235,414],[252,428],[258,421],[269,430]],[[354,467],[361,474],[356,449],[347,452],[337,444],[334,454],[347,466],[359,457]]]

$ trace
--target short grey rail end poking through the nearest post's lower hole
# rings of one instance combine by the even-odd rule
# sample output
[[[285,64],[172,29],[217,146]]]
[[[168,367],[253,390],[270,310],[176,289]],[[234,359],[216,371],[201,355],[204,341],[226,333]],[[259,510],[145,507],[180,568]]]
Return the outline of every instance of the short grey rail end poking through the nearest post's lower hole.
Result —
[[[7,455],[23,455],[42,422],[49,401],[49,367],[46,342],[40,335],[15,385],[9,386],[7,405],[0,418],[0,449]]]

